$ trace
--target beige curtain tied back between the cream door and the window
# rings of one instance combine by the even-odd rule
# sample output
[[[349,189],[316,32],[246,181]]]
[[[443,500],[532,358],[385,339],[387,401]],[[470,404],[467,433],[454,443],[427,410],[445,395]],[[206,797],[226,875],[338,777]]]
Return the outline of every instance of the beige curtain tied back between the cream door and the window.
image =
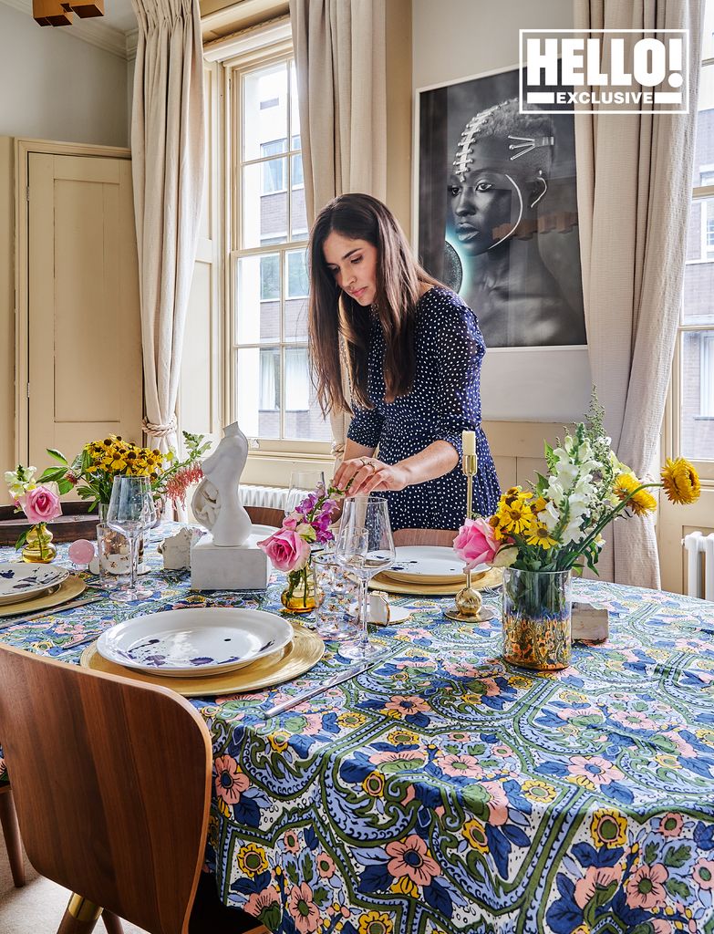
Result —
[[[184,322],[206,144],[198,0],[132,0],[139,22],[132,158],[149,443],[176,446]]]

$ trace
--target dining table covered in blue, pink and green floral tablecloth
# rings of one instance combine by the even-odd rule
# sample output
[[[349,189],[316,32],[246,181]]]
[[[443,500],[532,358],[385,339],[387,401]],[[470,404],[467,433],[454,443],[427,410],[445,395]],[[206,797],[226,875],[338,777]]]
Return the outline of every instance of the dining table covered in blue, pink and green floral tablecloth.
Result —
[[[119,618],[282,610],[281,573],[267,590],[197,592],[156,541],[147,561],[147,600],[109,591],[0,620],[0,641],[77,664]],[[562,671],[503,661],[497,591],[484,597],[497,617],[477,623],[413,594],[391,598],[410,616],[371,627],[379,660],[342,684],[325,686],[354,663],[328,642],[293,681],[192,698],[213,742],[220,898],[283,934],[714,932],[714,603],[599,580],[573,591],[607,608],[609,638],[573,644]]]

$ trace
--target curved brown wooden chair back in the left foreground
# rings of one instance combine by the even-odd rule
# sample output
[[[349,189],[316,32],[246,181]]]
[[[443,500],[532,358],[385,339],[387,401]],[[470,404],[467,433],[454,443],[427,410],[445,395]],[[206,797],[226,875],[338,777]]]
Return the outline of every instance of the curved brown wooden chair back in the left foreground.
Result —
[[[39,873],[151,934],[186,934],[211,741],[188,701],[0,645],[0,739]]]

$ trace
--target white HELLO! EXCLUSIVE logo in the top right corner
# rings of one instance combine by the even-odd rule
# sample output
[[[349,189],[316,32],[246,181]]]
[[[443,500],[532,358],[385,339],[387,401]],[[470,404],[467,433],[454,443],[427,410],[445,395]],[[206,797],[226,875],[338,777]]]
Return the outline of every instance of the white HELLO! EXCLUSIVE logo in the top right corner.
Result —
[[[521,113],[689,113],[689,30],[521,29]]]

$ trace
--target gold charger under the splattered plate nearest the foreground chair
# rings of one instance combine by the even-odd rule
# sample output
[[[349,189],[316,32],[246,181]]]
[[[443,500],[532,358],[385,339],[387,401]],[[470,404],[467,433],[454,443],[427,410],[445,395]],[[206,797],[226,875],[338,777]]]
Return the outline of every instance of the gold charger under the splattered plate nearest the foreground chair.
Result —
[[[79,664],[82,668],[91,668],[95,672],[120,674],[133,681],[147,681],[152,685],[171,687],[177,694],[185,698],[203,698],[218,694],[237,694],[247,691],[259,691],[263,687],[273,687],[284,681],[292,681],[299,674],[304,674],[317,664],[325,654],[325,643],[312,630],[293,623],[295,635],[290,644],[281,652],[276,652],[269,658],[261,658],[237,672],[221,672],[220,674],[207,674],[203,678],[177,678],[166,677],[161,674],[147,674],[136,672],[131,668],[123,668],[108,661],[97,652],[96,643],[88,645],[82,652]]]

